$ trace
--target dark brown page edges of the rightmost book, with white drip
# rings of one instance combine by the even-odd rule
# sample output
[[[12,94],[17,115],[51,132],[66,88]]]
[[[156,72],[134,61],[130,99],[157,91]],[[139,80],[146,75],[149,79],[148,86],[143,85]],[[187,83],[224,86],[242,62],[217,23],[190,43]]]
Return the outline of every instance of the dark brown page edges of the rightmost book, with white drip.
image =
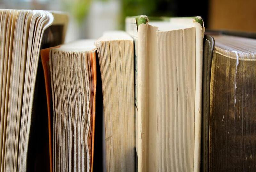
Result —
[[[256,168],[255,66],[256,61],[213,55],[209,171]]]

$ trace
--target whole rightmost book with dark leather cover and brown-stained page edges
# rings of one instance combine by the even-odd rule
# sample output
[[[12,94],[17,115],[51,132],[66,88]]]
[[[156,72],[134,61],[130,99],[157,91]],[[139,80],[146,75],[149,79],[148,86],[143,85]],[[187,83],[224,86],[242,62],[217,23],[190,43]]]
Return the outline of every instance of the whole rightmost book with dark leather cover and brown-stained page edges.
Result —
[[[253,171],[255,34],[209,33],[204,43],[202,170]]]

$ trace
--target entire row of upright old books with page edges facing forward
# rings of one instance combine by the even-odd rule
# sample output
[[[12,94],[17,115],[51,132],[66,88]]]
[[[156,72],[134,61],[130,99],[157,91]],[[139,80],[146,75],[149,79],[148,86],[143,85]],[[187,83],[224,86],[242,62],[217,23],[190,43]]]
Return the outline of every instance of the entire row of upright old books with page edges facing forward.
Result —
[[[0,15],[1,171],[256,169],[255,34],[135,16],[64,44],[64,13]]]

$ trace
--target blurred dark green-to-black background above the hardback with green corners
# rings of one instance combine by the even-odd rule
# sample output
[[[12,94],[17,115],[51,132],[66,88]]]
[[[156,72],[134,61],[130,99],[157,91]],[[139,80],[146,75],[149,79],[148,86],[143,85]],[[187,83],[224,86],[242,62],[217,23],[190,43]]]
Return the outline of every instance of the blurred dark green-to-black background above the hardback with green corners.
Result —
[[[190,17],[201,16],[207,25],[208,0],[123,0],[122,20],[125,16],[147,15],[150,17]],[[124,25],[124,24],[123,24]]]

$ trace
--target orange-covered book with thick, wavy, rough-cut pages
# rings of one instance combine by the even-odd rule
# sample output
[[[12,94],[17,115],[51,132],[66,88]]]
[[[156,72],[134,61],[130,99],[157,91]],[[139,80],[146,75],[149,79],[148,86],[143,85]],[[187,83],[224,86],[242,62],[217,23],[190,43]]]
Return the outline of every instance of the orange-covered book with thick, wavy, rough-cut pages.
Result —
[[[53,171],[92,171],[97,83],[94,40],[43,49],[41,58],[48,116],[52,99]]]

